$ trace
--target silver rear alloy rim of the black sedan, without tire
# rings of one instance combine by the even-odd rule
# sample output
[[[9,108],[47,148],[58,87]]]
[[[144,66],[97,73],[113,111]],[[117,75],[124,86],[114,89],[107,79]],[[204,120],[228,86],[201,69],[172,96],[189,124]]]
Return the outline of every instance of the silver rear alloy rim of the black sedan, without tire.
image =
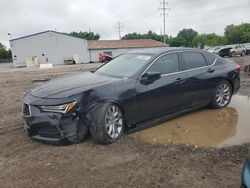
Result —
[[[231,97],[231,89],[230,86],[226,83],[219,85],[217,92],[216,92],[216,102],[219,106],[224,107],[226,106]]]

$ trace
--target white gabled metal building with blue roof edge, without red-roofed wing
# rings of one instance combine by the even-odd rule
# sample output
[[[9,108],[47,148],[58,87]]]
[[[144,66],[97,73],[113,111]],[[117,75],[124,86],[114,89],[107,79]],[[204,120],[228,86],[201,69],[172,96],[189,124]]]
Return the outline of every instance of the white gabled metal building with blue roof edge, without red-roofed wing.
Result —
[[[14,67],[26,66],[37,59],[39,64],[64,64],[74,59],[75,63],[89,62],[87,40],[56,31],[44,31],[10,40]]]

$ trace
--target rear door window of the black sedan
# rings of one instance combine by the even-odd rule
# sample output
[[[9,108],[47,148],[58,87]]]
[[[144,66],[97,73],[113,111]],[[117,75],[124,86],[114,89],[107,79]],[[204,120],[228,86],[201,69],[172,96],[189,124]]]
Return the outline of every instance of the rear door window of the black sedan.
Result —
[[[204,56],[200,52],[182,52],[185,70],[207,66]]]

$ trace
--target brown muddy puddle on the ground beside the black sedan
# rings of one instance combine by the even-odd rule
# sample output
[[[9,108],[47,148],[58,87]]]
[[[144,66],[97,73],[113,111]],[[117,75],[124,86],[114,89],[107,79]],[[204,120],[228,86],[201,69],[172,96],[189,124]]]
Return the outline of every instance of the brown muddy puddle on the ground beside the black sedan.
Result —
[[[235,95],[227,108],[203,109],[132,135],[153,144],[226,147],[250,142],[250,98]]]

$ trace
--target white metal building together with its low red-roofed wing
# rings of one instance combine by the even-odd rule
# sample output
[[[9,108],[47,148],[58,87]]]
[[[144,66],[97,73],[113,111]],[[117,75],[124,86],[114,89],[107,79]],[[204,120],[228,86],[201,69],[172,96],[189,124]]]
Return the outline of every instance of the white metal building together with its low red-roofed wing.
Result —
[[[115,57],[131,50],[166,46],[151,39],[87,41],[51,30],[10,40],[14,67],[22,67],[30,63],[96,62],[99,60],[100,53]]]

